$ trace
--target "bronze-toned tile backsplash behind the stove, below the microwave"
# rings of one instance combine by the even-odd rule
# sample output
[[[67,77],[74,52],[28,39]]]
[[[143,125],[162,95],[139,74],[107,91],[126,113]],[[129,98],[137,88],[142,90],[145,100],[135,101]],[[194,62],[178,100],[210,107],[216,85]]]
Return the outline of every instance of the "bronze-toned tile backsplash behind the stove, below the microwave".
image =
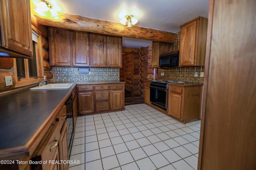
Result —
[[[159,80],[204,83],[204,77],[200,77],[201,72],[204,72],[204,66],[158,68],[157,72]],[[164,76],[161,76],[162,72]],[[195,72],[198,72],[197,77],[194,76]]]

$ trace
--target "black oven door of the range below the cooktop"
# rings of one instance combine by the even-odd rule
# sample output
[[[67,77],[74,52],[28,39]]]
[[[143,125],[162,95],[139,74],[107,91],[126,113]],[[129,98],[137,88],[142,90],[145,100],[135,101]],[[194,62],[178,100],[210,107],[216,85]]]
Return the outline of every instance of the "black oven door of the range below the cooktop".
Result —
[[[167,110],[167,89],[150,86],[150,102],[151,104]]]

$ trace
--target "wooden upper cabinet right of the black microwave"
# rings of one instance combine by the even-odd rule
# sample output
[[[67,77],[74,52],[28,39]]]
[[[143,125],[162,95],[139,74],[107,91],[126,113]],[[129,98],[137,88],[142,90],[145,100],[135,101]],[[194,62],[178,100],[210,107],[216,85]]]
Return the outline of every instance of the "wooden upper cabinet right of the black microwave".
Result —
[[[198,17],[181,25],[179,66],[204,66],[207,23]]]

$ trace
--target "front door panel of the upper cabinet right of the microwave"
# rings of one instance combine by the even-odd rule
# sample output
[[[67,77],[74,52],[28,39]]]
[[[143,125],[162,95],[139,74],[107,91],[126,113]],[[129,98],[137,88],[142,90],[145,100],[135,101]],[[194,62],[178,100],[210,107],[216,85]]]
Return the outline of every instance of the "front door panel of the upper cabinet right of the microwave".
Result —
[[[180,66],[194,65],[195,44],[196,21],[193,21],[180,30]]]

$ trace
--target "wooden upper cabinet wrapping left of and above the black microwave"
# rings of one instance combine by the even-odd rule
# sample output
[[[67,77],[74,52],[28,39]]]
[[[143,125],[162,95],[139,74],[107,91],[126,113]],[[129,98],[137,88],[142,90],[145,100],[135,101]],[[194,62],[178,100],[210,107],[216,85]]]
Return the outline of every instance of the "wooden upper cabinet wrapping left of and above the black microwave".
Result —
[[[159,67],[159,56],[160,53],[168,51],[169,43],[152,42],[152,67]]]

